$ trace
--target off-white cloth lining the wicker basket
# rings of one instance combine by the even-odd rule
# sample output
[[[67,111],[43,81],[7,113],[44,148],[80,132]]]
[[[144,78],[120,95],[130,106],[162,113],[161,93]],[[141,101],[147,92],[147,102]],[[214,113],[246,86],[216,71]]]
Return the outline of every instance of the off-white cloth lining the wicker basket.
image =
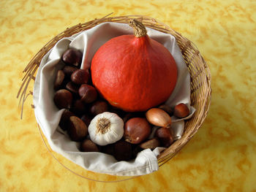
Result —
[[[190,77],[184,58],[176,44],[176,39],[170,34],[164,34],[151,28],[147,28],[148,36],[162,43],[172,53],[178,66],[178,81],[173,94],[166,104],[173,107],[183,102],[190,107]],[[69,47],[74,47],[83,52],[82,64],[90,66],[91,59],[97,49],[108,39],[121,34],[133,34],[132,28],[121,23],[102,23],[87,31],[82,31],[72,37],[61,39],[42,58],[37,77],[34,82],[34,113],[37,123],[42,128],[43,134],[48,139],[52,150],[65,158],[92,172],[113,175],[135,176],[149,174],[159,169],[157,155],[164,147],[157,147],[154,151],[149,149],[138,153],[132,161],[116,161],[112,155],[105,153],[82,153],[78,150],[78,143],[72,142],[64,131],[60,131],[59,120],[64,110],[59,110],[53,103],[53,82],[56,72],[61,69],[59,60],[61,55]],[[193,107],[191,115],[195,112]],[[173,117],[172,117],[173,118]],[[175,138],[179,139],[184,131],[184,120],[173,118],[173,130]]]

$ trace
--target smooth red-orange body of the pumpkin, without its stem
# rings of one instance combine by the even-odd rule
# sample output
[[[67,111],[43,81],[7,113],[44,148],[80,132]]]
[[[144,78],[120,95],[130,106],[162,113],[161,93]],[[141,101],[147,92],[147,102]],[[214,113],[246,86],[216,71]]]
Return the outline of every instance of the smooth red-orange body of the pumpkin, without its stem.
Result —
[[[122,35],[99,47],[91,61],[91,79],[111,105],[146,111],[173,92],[177,66],[170,52],[148,35]]]

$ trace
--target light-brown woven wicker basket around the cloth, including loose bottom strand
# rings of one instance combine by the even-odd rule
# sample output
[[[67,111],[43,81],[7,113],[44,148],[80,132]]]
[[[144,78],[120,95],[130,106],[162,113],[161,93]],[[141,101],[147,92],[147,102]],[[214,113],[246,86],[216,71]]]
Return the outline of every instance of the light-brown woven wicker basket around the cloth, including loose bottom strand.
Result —
[[[178,153],[179,150],[181,150],[184,145],[189,142],[189,140],[194,136],[194,134],[197,132],[197,130],[202,125],[203,121],[206,118],[206,115],[208,113],[208,109],[211,102],[211,74],[210,70],[206,64],[206,61],[204,61],[202,55],[200,55],[199,50],[197,50],[197,47],[195,44],[193,44],[189,39],[182,37],[181,34],[174,31],[169,26],[165,25],[165,23],[159,22],[159,20],[156,20],[154,18],[150,18],[143,15],[129,15],[129,16],[119,16],[119,17],[108,17],[105,16],[104,18],[91,20],[86,23],[79,23],[76,26],[72,26],[71,28],[67,28],[65,31],[61,32],[61,34],[57,35],[53,39],[50,40],[44,47],[42,47],[41,50],[34,56],[34,58],[29,62],[29,64],[26,66],[26,68],[23,70],[24,73],[26,73],[22,79],[22,85],[20,86],[20,90],[18,91],[18,98],[20,98],[20,104],[21,104],[21,118],[23,114],[23,104],[26,101],[27,96],[32,95],[32,91],[28,91],[29,84],[32,82],[31,80],[35,80],[35,76],[37,73],[37,69],[39,67],[39,64],[44,57],[46,53],[54,46],[57,42],[59,42],[60,39],[64,37],[71,37],[73,34],[77,34],[80,31],[88,30],[89,28],[93,28],[94,26],[99,25],[100,23],[105,22],[114,22],[114,23],[129,23],[129,20],[131,19],[137,19],[140,22],[143,23],[144,26],[148,28],[153,28],[157,31],[161,31],[165,34],[171,34],[174,37],[176,37],[176,41],[178,43],[178,47],[181,49],[181,53],[184,57],[184,61],[187,64],[187,68],[189,70],[190,74],[190,87],[191,87],[191,105],[192,107],[195,107],[196,111],[195,114],[190,118],[189,120],[185,121],[185,128],[184,128],[184,134],[182,135],[181,139],[176,140],[170,147],[162,151],[157,157],[159,166],[162,166],[167,161],[169,161],[171,158],[173,158],[176,153]],[[28,93],[29,92],[29,93]],[[33,107],[33,105],[32,105]],[[39,128],[40,131],[40,128]],[[45,143],[45,139],[42,135],[42,132],[40,131],[40,134],[42,136],[43,142]],[[49,147],[46,145],[49,152],[51,153]],[[53,155],[53,153],[51,153]],[[57,161],[58,159],[53,155],[53,158],[55,158]],[[61,164],[64,166],[64,164]],[[66,169],[71,171],[72,173],[76,174],[67,166],[64,166]],[[80,174],[77,174],[78,176],[81,176]],[[83,177],[83,176],[81,176]],[[89,177],[84,177],[89,180]],[[130,179],[132,177],[129,177]],[[128,180],[125,179],[125,180]],[[97,180],[100,181],[100,180]],[[121,181],[121,180],[115,180],[112,182]]]

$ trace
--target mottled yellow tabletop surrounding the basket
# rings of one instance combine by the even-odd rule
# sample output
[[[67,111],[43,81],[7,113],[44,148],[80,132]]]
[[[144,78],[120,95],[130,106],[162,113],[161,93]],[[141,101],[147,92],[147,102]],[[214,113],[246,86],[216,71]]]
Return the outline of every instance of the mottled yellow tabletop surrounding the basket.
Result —
[[[256,2],[0,1],[0,191],[256,191]],[[159,171],[120,183],[86,180],[42,142],[23,69],[50,39],[94,18],[147,15],[197,45],[211,70],[211,107],[191,141]],[[29,90],[32,89],[32,85]],[[62,164],[93,180],[119,180]]]

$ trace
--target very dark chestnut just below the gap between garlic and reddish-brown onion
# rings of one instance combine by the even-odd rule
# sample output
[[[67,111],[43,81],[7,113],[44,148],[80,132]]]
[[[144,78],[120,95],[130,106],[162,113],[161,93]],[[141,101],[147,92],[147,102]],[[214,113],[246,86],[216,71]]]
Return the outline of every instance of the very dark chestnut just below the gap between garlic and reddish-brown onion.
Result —
[[[117,161],[129,161],[132,159],[132,145],[123,140],[114,144],[114,157]]]

